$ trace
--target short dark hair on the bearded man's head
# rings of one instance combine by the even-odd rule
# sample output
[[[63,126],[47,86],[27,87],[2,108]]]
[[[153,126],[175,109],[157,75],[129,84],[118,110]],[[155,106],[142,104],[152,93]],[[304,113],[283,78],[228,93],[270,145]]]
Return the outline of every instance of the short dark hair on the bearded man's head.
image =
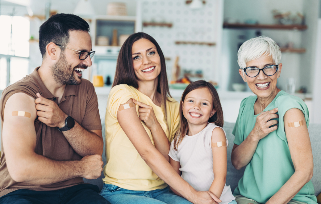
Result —
[[[39,29],[39,49],[44,59],[46,46],[50,42],[66,46],[69,42],[69,31],[90,31],[88,23],[74,14],[58,13],[52,15]],[[65,51],[64,47],[60,47]]]

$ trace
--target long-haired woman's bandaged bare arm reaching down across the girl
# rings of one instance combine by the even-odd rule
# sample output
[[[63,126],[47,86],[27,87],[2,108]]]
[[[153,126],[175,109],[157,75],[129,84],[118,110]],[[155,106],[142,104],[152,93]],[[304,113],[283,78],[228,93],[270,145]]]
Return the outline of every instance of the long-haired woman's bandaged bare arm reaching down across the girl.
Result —
[[[133,103],[133,100],[130,99],[127,103]],[[209,191],[195,191],[195,189],[175,172],[165,157],[152,144],[137,116],[135,108],[128,108],[122,111],[118,110],[117,120],[139,155],[164,182],[172,186],[178,193],[194,204],[216,203],[214,200],[220,202],[220,200]],[[128,122],[129,120],[130,123]]]

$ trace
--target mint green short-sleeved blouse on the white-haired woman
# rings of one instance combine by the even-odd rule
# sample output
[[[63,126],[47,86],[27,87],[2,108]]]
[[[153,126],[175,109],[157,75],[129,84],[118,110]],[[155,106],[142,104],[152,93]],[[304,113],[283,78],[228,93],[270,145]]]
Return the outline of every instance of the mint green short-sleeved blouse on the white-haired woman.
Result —
[[[232,134],[235,135],[234,144],[240,145],[254,128],[256,117],[254,103],[257,96],[249,96],[241,102],[239,116]],[[269,111],[278,108],[278,129],[262,138],[255,153],[245,168],[234,195],[242,195],[259,203],[266,203],[294,173],[288,141],[285,135],[283,116],[286,111],[297,108],[304,114],[307,126],[309,113],[307,105],[298,97],[280,91],[273,101],[265,108]],[[297,200],[309,204],[316,204],[314,187],[311,181],[294,196]]]

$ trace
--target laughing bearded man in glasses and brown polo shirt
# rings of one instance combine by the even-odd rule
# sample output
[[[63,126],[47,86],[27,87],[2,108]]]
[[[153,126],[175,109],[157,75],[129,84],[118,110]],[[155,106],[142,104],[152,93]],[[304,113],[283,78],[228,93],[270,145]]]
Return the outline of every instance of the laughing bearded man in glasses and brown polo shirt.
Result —
[[[109,203],[96,185],[103,139],[89,25],[56,14],[40,26],[42,64],[1,97],[0,203]]]

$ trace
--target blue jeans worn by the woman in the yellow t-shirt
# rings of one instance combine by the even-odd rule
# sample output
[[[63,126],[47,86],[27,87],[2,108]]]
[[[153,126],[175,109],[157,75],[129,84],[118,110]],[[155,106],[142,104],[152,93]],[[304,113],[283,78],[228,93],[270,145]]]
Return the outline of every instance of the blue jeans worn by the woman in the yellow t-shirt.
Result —
[[[111,204],[192,204],[185,198],[170,193],[168,188],[154,191],[131,191],[105,183],[100,195]]]

